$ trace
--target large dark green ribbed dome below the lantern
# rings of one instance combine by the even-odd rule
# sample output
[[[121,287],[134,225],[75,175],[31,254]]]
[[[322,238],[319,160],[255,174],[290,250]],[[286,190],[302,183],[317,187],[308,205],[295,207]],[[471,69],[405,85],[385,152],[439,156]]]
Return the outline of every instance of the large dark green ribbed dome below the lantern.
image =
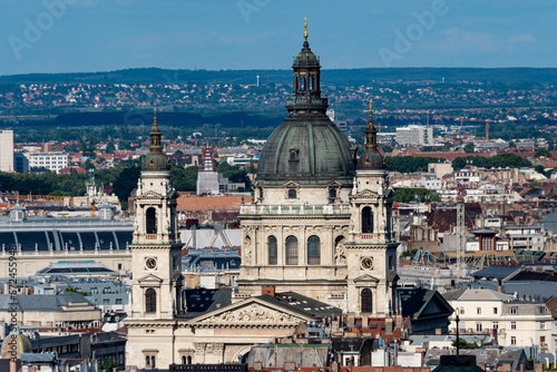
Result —
[[[352,185],[354,161],[346,136],[325,115],[286,120],[268,137],[257,165],[265,185]]]

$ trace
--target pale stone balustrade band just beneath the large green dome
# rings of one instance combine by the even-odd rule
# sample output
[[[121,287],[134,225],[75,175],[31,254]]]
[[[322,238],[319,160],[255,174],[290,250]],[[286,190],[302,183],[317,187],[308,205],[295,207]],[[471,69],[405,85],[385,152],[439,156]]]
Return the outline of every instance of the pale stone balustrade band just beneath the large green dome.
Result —
[[[245,204],[241,215],[350,215],[350,204]]]

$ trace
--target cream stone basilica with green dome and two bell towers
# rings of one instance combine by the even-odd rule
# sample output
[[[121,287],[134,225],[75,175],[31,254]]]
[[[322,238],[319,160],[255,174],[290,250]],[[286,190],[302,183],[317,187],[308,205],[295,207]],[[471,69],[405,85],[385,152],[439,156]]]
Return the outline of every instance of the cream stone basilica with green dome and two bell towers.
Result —
[[[127,360],[139,368],[234,362],[255,344],[340,313],[398,312],[392,189],[370,107],[363,151],[329,119],[320,58],[294,56],[284,123],[261,154],[242,205],[237,290],[186,296],[176,197],[156,121],[136,197]],[[204,312],[195,303],[212,301]]]

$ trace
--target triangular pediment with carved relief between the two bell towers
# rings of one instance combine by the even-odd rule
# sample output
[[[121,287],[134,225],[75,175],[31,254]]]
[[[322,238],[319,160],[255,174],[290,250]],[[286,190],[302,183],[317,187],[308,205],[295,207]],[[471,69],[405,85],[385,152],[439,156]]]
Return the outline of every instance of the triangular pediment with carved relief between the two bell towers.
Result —
[[[203,314],[190,321],[193,325],[199,324],[284,324],[295,325],[300,322],[313,320],[310,315],[273,306],[261,298],[247,298],[229,306]]]

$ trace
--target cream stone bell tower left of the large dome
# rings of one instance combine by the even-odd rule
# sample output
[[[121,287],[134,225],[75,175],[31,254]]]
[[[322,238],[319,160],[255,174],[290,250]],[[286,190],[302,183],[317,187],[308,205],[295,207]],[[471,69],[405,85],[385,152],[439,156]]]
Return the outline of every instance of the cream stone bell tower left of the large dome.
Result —
[[[176,217],[177,193],[170,163],[163,153],[157,110],[150,128],[149,153],[143,160],[135,199],[131,320],[173,319],[180,302],[182,244]]]

